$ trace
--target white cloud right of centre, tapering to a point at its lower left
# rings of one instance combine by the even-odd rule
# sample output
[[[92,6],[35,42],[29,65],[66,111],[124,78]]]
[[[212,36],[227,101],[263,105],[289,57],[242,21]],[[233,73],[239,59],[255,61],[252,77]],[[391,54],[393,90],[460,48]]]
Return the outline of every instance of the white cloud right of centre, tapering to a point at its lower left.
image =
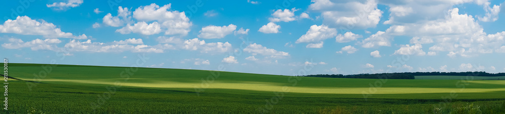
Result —
[[[328,28],[328,26],[312,25],[305,35],[302,35],[295,43],[316,43],[324,41],[328,38],[335,37],[337,30]]]

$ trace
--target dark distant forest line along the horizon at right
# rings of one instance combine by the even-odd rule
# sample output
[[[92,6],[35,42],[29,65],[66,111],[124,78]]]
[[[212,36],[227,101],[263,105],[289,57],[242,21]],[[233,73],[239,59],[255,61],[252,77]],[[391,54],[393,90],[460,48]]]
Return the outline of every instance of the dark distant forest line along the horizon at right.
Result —
[[[404,73],[377,73],[377,74],[316,74],[304,75],[307,77],[330,77],[330,78],[369,78],[369,79],[415,79],[414,76],[448,75],[448,76],[505,76],[505,73],[487,72],[404,72]]]

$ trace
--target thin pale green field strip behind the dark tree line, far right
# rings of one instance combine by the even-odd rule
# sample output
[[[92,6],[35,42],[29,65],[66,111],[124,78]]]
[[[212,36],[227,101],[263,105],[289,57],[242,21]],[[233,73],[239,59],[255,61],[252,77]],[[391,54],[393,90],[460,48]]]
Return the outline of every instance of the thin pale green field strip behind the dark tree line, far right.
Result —
[[[505,80],[505,76],[416,76],[416,79],[473,79],[473,80]]]

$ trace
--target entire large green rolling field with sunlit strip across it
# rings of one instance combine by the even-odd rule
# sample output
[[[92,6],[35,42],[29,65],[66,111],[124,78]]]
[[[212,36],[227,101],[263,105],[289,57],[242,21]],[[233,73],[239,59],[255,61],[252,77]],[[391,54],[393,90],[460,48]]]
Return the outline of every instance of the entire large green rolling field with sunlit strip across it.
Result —
[[[9,65],[10,113],[505,113],[505,80]]]

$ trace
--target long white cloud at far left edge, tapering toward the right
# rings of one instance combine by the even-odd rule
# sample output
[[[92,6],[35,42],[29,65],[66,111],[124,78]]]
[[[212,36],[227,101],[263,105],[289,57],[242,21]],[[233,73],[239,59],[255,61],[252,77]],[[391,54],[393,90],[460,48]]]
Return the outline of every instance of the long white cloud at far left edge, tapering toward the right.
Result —
[[[87,36],[84,34],[74,36],[72,33],[62,32],[61,29],[56,28],[56,25],[53,23],[47,23],[44,20],[38,22],[27,16],[18,16],[16,20],[5,21],[4,25],[0,25],[0,33],[41,35],[44,38],[87,39]]]

